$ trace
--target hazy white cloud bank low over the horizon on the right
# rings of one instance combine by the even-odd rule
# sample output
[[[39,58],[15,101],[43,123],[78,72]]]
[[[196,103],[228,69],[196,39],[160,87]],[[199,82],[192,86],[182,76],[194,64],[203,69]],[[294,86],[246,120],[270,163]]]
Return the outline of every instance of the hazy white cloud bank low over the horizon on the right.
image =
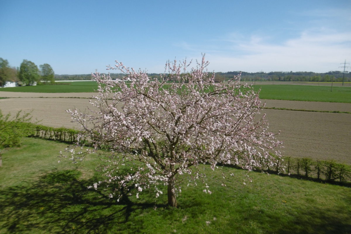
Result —
[[[192,48],[192,53],[206,52],[209,69],[215,71],[327,72],[338,70],[340,62],[351,59],[351,32],[330,32],[326,28],[304,30],[280,44],[267,43],[266,38],[257,35],[246,41],[229,38],[224,39],[229,45],[217,51],[199,45],[187,47]]]

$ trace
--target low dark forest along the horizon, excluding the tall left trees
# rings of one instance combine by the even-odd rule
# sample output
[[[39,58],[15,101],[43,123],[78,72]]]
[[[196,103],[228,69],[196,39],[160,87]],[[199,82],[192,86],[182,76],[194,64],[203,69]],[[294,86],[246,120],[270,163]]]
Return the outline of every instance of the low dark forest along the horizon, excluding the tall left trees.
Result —
[[[229,80],[238,75],[239,72],[216,72],[216,81],[221,82],[224,80]],[[157,73],[150,73],[149,76],[162,80],[163,75]],[[209,73],[212,75],[212,73]],[[122,73],[111,73],[112,79],[122,79],[124,74]],[[166,74],[167,76],[167,74]],[[315,72],[241,72],[241,80],[244,81],[314,81],[314,82],[330,82],[334,77],[333,81],[342,81],[343,72],[340,71],[330,71],[326,73],[315,73]],[[81,74],[81,75],[56,75],[55,80],[91,80],[91,74]],[[344,82],[351,81],[351,73],[345,71]]]

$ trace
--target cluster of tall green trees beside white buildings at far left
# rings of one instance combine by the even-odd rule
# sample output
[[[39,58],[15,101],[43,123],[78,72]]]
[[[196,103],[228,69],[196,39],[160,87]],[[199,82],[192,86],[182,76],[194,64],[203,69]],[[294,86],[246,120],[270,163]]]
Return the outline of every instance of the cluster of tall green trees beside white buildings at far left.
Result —
[[[19,85],[34,85],[40,83],[54,83],[54,70],[48,63],[39,66],[24,59],[20,67],[10,67],[7,59],[0,58],[0,87],[6,81],[18,82]]]

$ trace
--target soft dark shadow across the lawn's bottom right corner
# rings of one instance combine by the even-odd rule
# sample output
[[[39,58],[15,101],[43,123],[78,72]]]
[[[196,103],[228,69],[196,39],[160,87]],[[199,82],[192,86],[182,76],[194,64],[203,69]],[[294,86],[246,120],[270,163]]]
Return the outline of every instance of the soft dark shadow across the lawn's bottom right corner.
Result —
[[[335,207],[310,205],[300,209],[287,209],[286,212],[274,212],[265,207],[246,210],[241,216],[242,223],[254,223],[259,232],[252,229],[235,227],[238,233],[276,233],[276,234],[350,234],[351,216],[347,212],[351,206],[351,194],[345,196],[345,203]],[[249,230],[249,231],[248,231]]]

